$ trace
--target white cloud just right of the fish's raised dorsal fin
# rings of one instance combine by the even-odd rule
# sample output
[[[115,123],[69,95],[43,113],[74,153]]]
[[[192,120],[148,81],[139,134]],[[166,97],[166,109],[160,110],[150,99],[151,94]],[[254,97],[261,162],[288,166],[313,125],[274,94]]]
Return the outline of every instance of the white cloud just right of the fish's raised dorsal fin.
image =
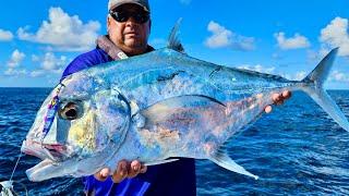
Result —
[[[234,34],[214,21],[208,23],[207,30],[213,33],[213,35],[205,40],[205,45],[209,48],[228,47],[238,50],[253,50],[255,48],[253,37]]]

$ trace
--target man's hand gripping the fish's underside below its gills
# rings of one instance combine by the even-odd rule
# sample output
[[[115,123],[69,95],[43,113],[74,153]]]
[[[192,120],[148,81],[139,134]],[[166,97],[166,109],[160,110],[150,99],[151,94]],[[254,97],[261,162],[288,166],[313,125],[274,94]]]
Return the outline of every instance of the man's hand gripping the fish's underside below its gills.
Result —
[[[111,180],[115,183],[120,183],[125,177],[134,177],[140,173],[146,172],[146,166],[141,164],[140,161],[133,160],[132,162],[128,162],[127,160],[121,160],[118,163],[117,170],[111,175]],[[98,181],[106,181],[110,175],[110,169],[104,168],[99,172],[95,173],[95,179]]]

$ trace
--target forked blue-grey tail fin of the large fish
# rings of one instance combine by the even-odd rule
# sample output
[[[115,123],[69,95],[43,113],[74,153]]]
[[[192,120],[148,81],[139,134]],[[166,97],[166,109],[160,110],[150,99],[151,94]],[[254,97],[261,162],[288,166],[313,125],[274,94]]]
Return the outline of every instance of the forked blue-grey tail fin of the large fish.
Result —
[[[324,82],[328,77],[329,71],[338,52],[338,48],[333,49],[317,66],[301,81],[301,89],[305,91],[313,100],[323,108],[342,128],[349,132],[349,122],[340,111],[336,102],[329,97],[323,88]]]

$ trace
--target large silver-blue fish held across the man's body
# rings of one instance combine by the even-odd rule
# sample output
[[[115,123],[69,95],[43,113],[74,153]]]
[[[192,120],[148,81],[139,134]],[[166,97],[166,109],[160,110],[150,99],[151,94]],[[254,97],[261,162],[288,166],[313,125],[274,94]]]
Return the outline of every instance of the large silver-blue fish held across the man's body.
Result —
[[[323,89],[338,49],[302,81],[227,68],[185,54],[172,30],[169,46],[74,73],[44,101],[22,151],[43,159],[31,181],[89,175],[121,159],[146,166],[172,157],[209,159],[256,175],[231,160],[225,142],[273,103],[272,95],[309,94],[344,130],[349,123]]]

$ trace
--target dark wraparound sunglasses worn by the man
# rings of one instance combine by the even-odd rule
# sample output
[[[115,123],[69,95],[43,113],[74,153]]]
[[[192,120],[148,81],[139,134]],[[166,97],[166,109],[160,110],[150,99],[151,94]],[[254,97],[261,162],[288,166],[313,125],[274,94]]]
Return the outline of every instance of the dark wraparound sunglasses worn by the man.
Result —
[[[143,24],[147,22],[151,17],[148,12],[125,12],[125,11],[110,11],[109,14],[112,19],[115,19],[119,23],[127,22],[130,17],[133,17],[133,20],[139,23]]]

